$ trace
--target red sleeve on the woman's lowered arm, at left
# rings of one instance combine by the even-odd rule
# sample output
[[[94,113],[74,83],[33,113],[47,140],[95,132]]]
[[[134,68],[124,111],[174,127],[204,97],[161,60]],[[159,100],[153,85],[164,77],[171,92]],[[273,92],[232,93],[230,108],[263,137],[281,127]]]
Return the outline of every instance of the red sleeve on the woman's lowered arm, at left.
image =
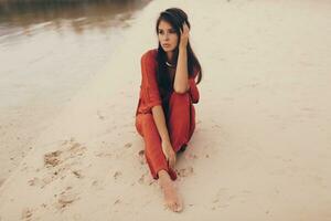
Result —
[[[161,98],[157,82],[157,61],[151,53],[141,56],[141,75],[145,102],[148,108],[161,105]]]

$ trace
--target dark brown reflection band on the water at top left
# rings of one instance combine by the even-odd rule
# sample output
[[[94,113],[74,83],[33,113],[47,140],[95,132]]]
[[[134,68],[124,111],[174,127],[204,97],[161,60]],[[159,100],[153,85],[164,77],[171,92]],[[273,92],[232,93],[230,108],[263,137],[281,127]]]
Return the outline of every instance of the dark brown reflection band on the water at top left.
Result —
[[[70,27],[82,34],[90,29],[107,32],[113,27],[126,28],[132,13],[149,1],[9,1],[0,2],[0,44],[17,35],[30,36],[35,25],[64,34]]]

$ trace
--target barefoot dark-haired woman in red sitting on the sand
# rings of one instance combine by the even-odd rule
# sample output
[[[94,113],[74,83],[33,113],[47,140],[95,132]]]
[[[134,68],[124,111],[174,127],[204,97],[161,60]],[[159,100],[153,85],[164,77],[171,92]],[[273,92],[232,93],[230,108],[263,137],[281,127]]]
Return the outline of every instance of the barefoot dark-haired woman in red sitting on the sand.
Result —
[[[151,176],[159,179],[166,204],[175,212],[183,209],[173,182],[175,156],[185,150],[193,135],[193,103],[199,102],[196,84],[202,77],[189,42],[190,27],[181,9],[160,13],[156,25],[159,46],[141,56],[142,80],[136,112],[136,128],[145,140]]]

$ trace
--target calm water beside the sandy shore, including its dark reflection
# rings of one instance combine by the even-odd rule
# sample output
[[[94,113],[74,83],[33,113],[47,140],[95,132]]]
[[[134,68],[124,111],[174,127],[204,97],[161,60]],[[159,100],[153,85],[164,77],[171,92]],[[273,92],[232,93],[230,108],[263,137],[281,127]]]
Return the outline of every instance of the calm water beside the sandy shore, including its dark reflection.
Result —
[[[147,3],[0,3],[0,186],[116,54]]]

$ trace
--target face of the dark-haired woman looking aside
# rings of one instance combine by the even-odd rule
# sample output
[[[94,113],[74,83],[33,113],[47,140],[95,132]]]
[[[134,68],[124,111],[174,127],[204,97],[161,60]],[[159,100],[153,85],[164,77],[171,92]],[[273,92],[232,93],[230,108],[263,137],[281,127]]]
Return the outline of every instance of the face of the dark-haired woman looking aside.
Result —
[[[158,27],[159,42],[164,52],[173,51],[178,44],[178,34],[171,24],[161,20]]]

